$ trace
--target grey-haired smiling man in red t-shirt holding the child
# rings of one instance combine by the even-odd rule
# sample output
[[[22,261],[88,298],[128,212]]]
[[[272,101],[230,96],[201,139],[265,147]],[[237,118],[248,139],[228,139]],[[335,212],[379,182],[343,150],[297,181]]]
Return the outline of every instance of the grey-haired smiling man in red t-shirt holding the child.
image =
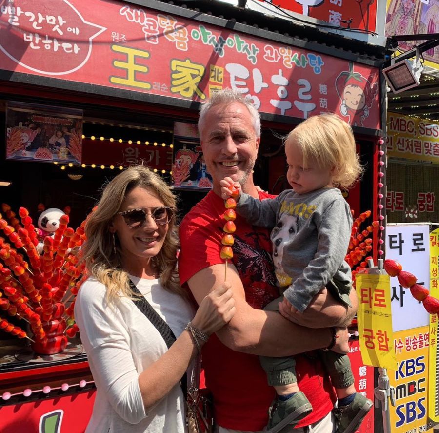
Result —
[[[201,108],[199,130],[213,190],[183,219],[179,257],[181,284],[189,286],[198,303],[225,277],[226,267],[220,259],[225,222],[220,180],[229,176],[253,197],[269,197],[253,183],[260,119],[251,102],[229,89],[216,93]],[[232,285],[237,312],[203,348],[206,384],[214,396],[220,433],[259,432],[267,424],[267,410],[275,393],[267,385],[256,355],[296,355],[331,346],[332,340],[344,344],[338,347],[339,351],[347,351],[346,333],[336,339],[329,329],[310,328],[346,326],[357,306],[355,293],[351,296],[354,308],[345,309],[323,289],[310,309],[291,317],[309,328],[287,321],[279,313],[261,310],[279,296],[269,231],[252,227],[239,216],[235,223],[234,257],[227,267],[226,279]],[[281,312],[289,314],[282,309]],[[319,359],[307,354],[296,360],[299,387],[314,411],[297,424],[295,432],[333,432],[331,411],[335,398]]]

